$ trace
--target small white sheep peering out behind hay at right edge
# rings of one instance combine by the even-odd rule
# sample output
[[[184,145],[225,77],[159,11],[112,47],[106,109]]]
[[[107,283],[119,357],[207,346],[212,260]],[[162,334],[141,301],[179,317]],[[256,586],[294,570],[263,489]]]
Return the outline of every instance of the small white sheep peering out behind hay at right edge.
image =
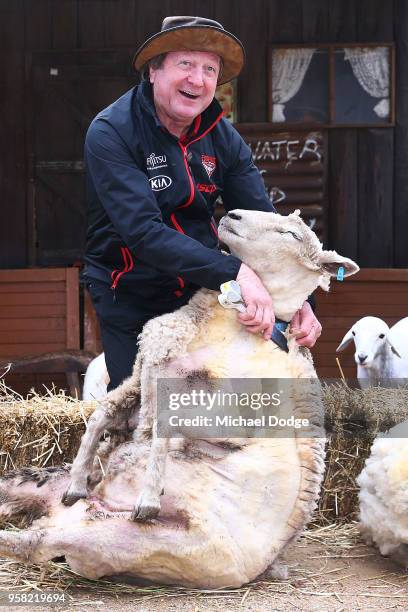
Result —
[[[348,330],[336,351],[343,351],[353,341],[361,388],[379,382],[392,385],[392,379],[408,378],[408,317],[391,329],[378,317],[363,317]]]

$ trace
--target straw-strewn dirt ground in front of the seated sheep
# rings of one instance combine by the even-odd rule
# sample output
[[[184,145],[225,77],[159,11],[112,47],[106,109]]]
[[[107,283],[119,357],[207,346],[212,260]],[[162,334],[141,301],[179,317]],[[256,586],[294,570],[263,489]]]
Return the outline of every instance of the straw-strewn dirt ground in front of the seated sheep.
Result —
[[[65,591],[70,602],[54,609],[109,612],[408,610],[408,572],[366,546],[353,526],[307,531],[289,550],[286,563],[289,569],[286,580],[266,578],[241,589],[212,592],[74,580]],[[18,583],[21,581],[20,576]],[[30,581],[34,584],[32,576]],[[38,584],[41,586],[41,582]],[[48,580],[47,586],[50,584]],[[1,587],[5,588],[4,572]],[[22,607],[0,609],[23,610]],[[46,608],[30,609],[40,612]]]

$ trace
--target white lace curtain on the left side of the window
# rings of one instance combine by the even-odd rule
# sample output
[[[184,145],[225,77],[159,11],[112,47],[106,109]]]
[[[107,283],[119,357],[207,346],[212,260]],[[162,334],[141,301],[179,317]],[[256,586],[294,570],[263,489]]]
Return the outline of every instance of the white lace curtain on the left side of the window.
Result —
[[[316,49],[274,49],[272,55],[272,121],[286,121],[285,104],[299,91]]]

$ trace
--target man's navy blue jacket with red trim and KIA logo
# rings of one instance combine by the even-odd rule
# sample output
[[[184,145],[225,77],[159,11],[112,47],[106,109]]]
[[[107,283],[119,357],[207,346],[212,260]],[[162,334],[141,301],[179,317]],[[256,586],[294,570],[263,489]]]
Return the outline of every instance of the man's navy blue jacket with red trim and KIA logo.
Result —
[[[241,261],[218,250],[215,201],[274,212],[251,152],[216,100],[177,139],[143,82],[97,115],[85,142],[87,278],[143,300],[219,289]]]

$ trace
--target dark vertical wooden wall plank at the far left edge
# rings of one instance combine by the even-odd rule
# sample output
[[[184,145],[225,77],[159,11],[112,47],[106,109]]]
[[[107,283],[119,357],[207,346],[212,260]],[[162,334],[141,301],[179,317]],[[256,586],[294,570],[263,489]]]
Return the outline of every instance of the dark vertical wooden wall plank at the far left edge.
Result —
[[[3,5],[5,3],[3,2]],[[8,2],[0,17],[0,267],[27,263],[25,224],[24,5]]]

